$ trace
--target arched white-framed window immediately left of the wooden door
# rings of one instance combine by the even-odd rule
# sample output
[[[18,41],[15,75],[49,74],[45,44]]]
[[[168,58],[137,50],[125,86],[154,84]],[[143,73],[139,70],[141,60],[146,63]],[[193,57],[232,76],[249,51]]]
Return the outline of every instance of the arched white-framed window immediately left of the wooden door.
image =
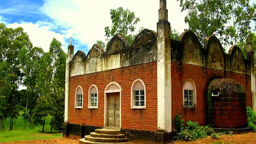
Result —
[[[88,108],[98,108],[98,88],[92,84],[88,92]]]

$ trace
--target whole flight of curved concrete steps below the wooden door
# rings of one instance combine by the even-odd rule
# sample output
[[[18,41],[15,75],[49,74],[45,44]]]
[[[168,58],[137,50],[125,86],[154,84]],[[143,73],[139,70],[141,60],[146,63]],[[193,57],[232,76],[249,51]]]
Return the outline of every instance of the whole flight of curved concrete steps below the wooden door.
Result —
[[[104,129],[95,129],[95,132],[90,132],[90,135],[84,136],[79,140],[79,144],[130,144],[124,134],[121,134],[120,129],[104,127]]]

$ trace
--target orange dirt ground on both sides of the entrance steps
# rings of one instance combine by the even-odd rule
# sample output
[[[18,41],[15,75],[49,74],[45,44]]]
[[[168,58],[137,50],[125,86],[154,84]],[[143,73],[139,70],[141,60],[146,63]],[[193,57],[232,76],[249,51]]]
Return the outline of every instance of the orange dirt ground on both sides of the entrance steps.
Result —
[[[221,143],[222,142],[222,143]],[[52,140],[33,140],[33,141],[12,141],[8,143],[0,144],[78,144],[79,140],[70,138],[55,138]],[[212,139],[211,137],[199,139],[196,141],[175,141],[174,144],[197,144],[197,143],[214,143],[214,144],[255,144],[256,143],[256,132],[248,132],[245,134],[234,134],[232,136],[225,135],[220,136],[219,140]],[[134,143],[135,144],[135,143]],[[136,143],[138,144],[138,143]],[[172,144],[172,143],[169,143]]]

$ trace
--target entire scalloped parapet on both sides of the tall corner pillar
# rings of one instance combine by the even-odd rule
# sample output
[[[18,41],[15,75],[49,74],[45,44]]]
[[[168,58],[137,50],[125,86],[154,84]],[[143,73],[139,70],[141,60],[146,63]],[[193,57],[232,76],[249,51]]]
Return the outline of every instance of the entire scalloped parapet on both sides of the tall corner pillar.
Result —
[[[110,40],[106,51],[97,44],[93,45],[87,56],[84,52],[77,51],[70,62],[70,76],[157,61],[156,43],[157,33],[149,29],[141,31],[131,46],[127,44],[124,36],[116,34]],[[220,41],[214,35],[205,40],[202,48],[195,33],[185,31],[179,40],[171,40],[171,47],[172,61],[250,74],[250,60],[244,59],[241,49],[234,45],[225,54]]]

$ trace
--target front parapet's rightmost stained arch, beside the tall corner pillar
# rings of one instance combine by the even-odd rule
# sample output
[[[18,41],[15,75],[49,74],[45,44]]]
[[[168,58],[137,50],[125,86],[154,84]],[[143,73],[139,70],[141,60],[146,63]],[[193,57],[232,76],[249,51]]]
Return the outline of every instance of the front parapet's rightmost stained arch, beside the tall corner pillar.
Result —
[[[150,29],[143,29],[132,43],[132,49],[140,47],[150,47],[151,45],[156,44],[157,33]]]

